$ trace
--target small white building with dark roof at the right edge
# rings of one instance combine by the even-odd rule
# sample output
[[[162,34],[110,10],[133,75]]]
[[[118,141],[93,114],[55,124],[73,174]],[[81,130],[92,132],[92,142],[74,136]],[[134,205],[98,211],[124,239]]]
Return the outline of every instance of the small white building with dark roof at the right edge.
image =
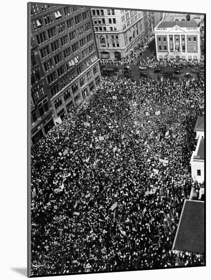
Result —
[[[191,175],[194,181],[203,183],[204,181],[204,117],[198,116],[195,125],[197,145],[193,151],[190,164]]]

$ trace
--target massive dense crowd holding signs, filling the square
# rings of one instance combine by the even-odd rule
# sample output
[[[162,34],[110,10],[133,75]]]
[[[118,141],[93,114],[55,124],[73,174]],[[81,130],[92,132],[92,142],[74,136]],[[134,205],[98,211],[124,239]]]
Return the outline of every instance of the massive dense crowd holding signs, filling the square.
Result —
[[[32,274],[203,265],[172,250],[203,114],[200,79],[102,78],[32,148]]]

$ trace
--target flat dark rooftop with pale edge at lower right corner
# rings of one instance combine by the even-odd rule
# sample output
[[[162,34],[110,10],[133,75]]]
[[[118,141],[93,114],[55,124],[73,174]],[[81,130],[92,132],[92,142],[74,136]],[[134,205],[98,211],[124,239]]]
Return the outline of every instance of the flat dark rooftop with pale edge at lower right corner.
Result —
[[[185,200],[172,249],[204,253],[204,202]]]

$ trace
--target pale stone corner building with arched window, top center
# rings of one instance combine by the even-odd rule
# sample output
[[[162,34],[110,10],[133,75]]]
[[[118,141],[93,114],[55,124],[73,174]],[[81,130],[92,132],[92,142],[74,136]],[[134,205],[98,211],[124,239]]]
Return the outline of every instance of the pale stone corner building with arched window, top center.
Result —
[[[100,59],[125,58],[144,39],[142,11],[91,9]]]

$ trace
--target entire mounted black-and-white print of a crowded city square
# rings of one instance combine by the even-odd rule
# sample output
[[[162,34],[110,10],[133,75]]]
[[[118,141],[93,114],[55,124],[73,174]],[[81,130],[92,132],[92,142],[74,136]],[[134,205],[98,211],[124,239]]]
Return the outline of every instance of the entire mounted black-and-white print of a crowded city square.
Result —
[[[205,14],[28,3],[28,276],[205,266],[204,39]]]

